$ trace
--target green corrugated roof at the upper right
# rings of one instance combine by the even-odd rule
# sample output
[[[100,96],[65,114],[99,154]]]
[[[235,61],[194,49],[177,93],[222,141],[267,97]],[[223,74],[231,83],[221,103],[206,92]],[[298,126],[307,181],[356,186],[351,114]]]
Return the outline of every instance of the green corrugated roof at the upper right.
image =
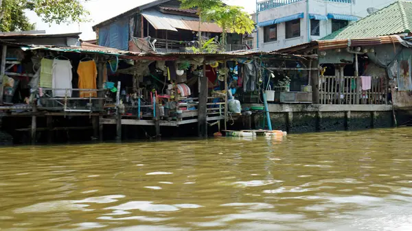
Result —
[[[321,40],[370,38],[412,31],[412,2],[396,1]]]

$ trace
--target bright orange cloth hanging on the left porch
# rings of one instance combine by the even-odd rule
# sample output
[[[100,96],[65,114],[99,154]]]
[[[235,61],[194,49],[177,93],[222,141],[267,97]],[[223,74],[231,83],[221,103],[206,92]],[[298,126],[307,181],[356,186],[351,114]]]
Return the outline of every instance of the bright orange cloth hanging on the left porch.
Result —
[[[96,77],[98,76],[98,70],[94,60],[80,62],[77,72],[79,75],[78,88],[97,89]],[[96,91],[80,91],[80,97],[98,97],[98,93]]]

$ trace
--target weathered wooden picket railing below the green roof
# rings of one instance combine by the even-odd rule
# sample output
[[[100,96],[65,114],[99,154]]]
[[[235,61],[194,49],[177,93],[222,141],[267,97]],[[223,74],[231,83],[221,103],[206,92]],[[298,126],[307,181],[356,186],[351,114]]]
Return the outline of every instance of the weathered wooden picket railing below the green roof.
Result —
[[[387,80],[371,77],[371,89],[362,90],[361,77],[319,77],[321,104],[387,104]]]

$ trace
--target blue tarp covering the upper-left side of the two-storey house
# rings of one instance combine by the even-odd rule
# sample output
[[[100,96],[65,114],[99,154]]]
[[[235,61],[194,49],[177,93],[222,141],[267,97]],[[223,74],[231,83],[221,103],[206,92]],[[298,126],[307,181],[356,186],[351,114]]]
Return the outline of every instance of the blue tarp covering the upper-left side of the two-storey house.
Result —
[[[128,50],[128,20],[120,20],[99,29],[99,45],[119,50]]]

